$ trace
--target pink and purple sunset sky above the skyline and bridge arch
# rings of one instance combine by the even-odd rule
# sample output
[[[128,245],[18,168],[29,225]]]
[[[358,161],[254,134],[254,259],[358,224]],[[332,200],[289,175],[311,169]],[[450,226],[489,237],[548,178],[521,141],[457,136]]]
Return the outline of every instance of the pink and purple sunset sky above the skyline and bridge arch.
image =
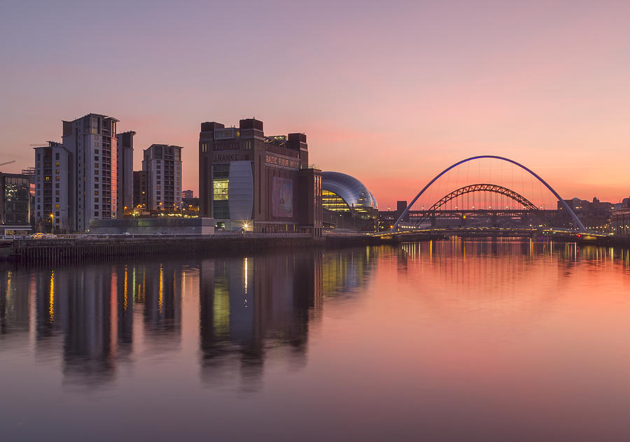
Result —
[[[34,164],[62,120],[116,117],[134,169],[200,123],[304,132],[309,161],[380,208],[474,155],[510,157],[563,197],[630,196],[627,1],[0,0],[0,162]],[[501,184],[501,183],[497,183]]]

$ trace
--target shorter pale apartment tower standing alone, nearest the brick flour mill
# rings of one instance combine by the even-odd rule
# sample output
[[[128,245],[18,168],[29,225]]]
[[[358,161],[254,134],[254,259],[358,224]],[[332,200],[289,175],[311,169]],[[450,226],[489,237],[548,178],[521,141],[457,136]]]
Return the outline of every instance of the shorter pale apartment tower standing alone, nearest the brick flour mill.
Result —
[[[149,211],[181,210],[181,150],[176,145],[152,144],[144,150]]]

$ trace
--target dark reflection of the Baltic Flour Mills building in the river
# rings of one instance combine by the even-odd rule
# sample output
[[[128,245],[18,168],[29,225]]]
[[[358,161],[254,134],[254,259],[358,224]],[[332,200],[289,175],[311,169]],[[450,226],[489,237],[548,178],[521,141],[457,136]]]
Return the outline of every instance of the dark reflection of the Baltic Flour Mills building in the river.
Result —
[[[209,259],[200,273],[202,379],[239,373],[260,385],[269,350],[304,364],[309,320],[321,310],[321,254]]]

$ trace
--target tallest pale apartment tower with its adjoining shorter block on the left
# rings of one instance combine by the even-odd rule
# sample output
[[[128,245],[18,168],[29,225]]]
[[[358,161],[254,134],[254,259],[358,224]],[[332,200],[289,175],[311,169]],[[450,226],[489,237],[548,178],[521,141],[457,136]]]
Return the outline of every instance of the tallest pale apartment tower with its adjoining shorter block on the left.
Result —
[[[95,113],[64,121],[61,145],[35,149],[36,218],[69,231],[116,218],[116,122]]]

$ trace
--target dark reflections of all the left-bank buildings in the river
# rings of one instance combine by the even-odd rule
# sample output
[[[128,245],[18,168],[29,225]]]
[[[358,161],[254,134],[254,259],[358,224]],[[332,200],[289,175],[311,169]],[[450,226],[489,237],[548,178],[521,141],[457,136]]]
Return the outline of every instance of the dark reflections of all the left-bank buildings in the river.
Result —
[[[106,385],[121,363],[134,363],[134,354],[178,357],[188,291],[198,323],[189,320],[186,326],[198,329],[204,383],[216,385],[237,373],[244,390],[258,390],[265,359],[281,349],[284,362],[303,366],[309,323],[320,317],[323,297],[365,285],[374,256],[362,248],[5,269],[0,343],[27,348],[32,339],[39,361],[60,359],[64,384]]]

